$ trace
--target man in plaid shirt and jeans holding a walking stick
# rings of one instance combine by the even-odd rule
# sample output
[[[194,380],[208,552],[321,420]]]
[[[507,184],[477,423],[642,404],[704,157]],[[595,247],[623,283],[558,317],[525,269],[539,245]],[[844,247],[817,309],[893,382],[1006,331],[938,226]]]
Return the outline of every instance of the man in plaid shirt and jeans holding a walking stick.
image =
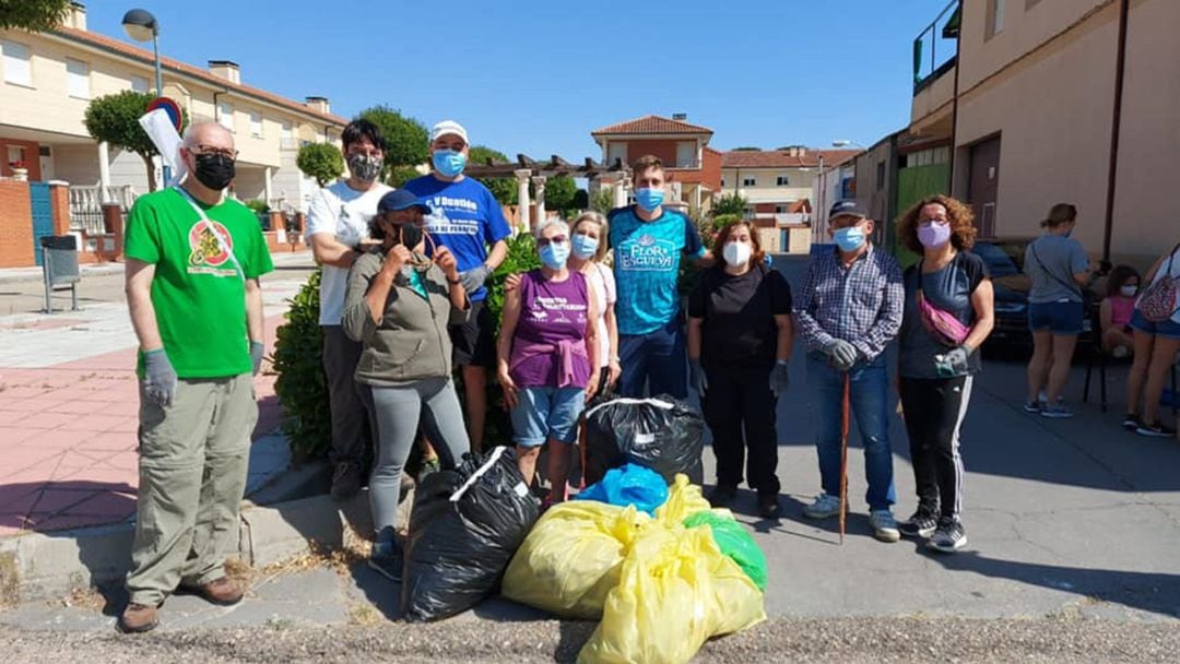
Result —
[[[795,326],[807,348],[807,377],[818,399],[819,472],[824,493],[804,515],[840,512],[840,423],[844,379],[865,448],[868,522],[881,541],[902,535],[893,520],[893,452],[889,442],[885,346],[902,327],[905,291],[892,256],[868,238],[873,221],[856,200],[838,200],[828,215],[831,251],[819,252],[795,305]]]

